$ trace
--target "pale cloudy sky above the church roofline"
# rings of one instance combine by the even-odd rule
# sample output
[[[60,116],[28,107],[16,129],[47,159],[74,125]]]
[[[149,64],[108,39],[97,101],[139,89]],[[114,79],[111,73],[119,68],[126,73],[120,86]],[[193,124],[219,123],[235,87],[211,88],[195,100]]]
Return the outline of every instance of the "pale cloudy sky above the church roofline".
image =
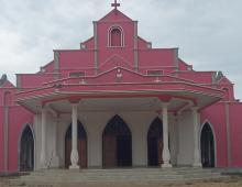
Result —
[[[0,76],[36,73],[53,50],[76,50],[113,0],[0,0]],[[222,70],[242,99],[241,0],[118,0],[153,47],[179,47],[195,70]]]

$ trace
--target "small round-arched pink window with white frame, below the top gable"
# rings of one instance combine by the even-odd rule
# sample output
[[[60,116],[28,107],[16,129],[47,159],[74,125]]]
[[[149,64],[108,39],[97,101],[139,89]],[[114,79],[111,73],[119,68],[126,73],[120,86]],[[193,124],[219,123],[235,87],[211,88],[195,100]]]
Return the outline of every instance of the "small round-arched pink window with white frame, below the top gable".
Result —
[[[123,31],[120,26],[113,26],[109,30],[109,46],[123,46]]]

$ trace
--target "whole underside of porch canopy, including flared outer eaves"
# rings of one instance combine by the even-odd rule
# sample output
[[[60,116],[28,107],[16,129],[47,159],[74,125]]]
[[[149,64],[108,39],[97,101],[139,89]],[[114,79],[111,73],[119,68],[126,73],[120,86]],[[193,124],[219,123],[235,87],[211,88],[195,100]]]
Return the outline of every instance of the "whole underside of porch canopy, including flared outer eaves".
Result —
[[[113,97],[82,97],[79,100],[79,111],[158,111],[161,110],[161,101],[155,96],[162,95],[145,95],[145,97],[123,97],[123,95],[118,95]],[[165,95],[167,96],[167,94]],[[169,100],[168,111],[177,112],[178,110],[187,109],[187,106],[191,106],[196,101],[199,108],[206,107],[218,101],[218,97],[209,97],[207,95],[197,94],[169,94],[172,99]],[[69,102],[70,96],[52,96],[46,103],[57,113],[70,113],[72,105]],[[46,100],[45,100],[46,101]],[[41,98],[32,98],[20,101],[20,103],[26,107],[34,113],[41,112],[41,106],[43,100]]]

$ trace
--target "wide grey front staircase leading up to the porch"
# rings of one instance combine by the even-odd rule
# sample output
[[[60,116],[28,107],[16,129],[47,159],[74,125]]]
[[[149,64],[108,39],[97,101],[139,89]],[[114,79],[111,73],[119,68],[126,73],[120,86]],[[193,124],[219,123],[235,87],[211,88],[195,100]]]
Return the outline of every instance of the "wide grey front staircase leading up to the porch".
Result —
[[[11,186],[91,186],[186,184],[228,179],[217,169],[177,168],[116,168],[116,169],[47,169],[32,172],[9,183]],[[132,186],[131,185],[131,186]]]

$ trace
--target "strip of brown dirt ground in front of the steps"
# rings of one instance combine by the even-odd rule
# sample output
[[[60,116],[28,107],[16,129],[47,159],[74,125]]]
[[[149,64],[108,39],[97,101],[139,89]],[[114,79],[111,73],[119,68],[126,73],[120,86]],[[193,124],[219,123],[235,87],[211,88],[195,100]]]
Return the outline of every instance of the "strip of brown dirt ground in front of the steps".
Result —
[[[24,187],[25,185],[21,185]],[[8,185],[8,178],[0,177],[0,187],[13,187]],[[20,186],[14,186],[20,187]],[[204,183],[186,183],[186,184],[96,184],[96,185],[31,185],[28,187],[242,187],[242,176],[232,177],[231,179],[223,182],[204,182]]]

